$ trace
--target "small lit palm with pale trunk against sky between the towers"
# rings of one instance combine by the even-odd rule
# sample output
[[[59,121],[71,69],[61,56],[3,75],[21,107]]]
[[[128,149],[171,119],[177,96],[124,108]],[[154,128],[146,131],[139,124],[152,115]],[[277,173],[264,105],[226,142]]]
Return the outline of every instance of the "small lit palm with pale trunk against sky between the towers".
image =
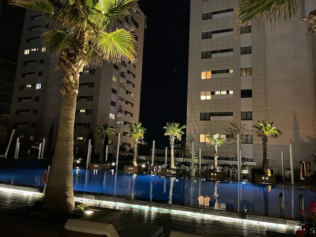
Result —
[[[174,140],[177,138],[179,141],[181,141],[181,136],[184,134],[184,131],[182,129],[185,129],[186,126],[183,125],[180,127],[180,124],[172,122],[167,123],[167,126],[164,126],[163,128],[166,129],[165,136],[169,136],[170,141],[170,167],[174,168],[174,158],[173,158],[173,147],[174,147]]]

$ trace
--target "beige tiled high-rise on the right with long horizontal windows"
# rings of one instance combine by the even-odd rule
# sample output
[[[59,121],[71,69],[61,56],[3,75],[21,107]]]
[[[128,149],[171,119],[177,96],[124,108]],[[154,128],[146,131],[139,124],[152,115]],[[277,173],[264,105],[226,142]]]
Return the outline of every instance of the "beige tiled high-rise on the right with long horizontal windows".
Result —
[[[234,23],[238,2],[191,1],[187,133],[202,157],[213,159],[205,134],[225,138],[230,122],[248,129],[256,120],[274,122],[283,134],[269,138],[268,165],[281,170],[284,151],[289,168],[293,144],[295,177],[304,177],[313,171],[316,151],[316,35],[300,17],[316,6],[302,1],[297,16],[284,24],[257,20],[240,28]],[[261,139],[253,134],[242,143],[241,156],[261,164]],[[225,144],[218,154],[237,160],[234,146]]]

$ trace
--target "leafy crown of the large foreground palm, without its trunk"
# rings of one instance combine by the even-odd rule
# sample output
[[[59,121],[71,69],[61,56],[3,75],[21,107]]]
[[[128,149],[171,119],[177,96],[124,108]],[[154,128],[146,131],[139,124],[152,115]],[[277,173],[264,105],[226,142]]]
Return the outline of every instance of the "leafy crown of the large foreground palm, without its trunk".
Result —
[[[79,55],[85,64],[99,64],[103,59],[113,62],[121,58],[131,62],[136,60],[132,29],[112,31],[115,18],[124,15],[136,1],[9,0],[9,3],[41,11],[54,23],[54,30],[41,36],[49,55],[60,56],[66,50]]]

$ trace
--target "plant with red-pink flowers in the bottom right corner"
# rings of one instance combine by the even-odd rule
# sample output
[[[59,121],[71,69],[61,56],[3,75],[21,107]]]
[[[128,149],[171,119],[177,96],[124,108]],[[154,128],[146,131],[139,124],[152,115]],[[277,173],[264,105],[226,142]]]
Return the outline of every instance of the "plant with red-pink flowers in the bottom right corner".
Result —
[[[315,227],[316,227],[316,203],[310,201],[309,207],[307,208],[307,212],[309,213],[308,217],[305,218],[304,211],[300,211],[301,213],[301,221],[300,228],[298,228],[295,232],[298,236],[308,236],[315,237]]]

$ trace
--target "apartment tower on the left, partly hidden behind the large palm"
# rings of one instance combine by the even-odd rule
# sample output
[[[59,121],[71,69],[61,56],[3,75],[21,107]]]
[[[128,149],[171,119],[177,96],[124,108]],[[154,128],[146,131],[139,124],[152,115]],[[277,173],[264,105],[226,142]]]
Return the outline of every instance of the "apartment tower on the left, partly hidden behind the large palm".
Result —
[[[103,61],[97,67],[88,65],[83,69],[74,125],[74,139],[82,142],[79,150],[87,151],[88,138],[93,137],[94,151],[100,152],[100,137],[93,135],[96,125],[103,123],[116,131],[109,137],[109,153],[116,151],[119,132],[120,146],[127,150],[133,147],[127,125],[138,123],[139,118],[145,27],[146,17],[135,4],[124,18],[114,22],[113,29],[133,28],[137,61]],[[63,71],[54,70],[58,59],[49,57],[40,41],[43,30],[49,28],[40,12],[26,11],[10,113],[10,124],[16,128],[24,152],[42,137],[47,142],[52,127],[52,150],[56,142]]]

